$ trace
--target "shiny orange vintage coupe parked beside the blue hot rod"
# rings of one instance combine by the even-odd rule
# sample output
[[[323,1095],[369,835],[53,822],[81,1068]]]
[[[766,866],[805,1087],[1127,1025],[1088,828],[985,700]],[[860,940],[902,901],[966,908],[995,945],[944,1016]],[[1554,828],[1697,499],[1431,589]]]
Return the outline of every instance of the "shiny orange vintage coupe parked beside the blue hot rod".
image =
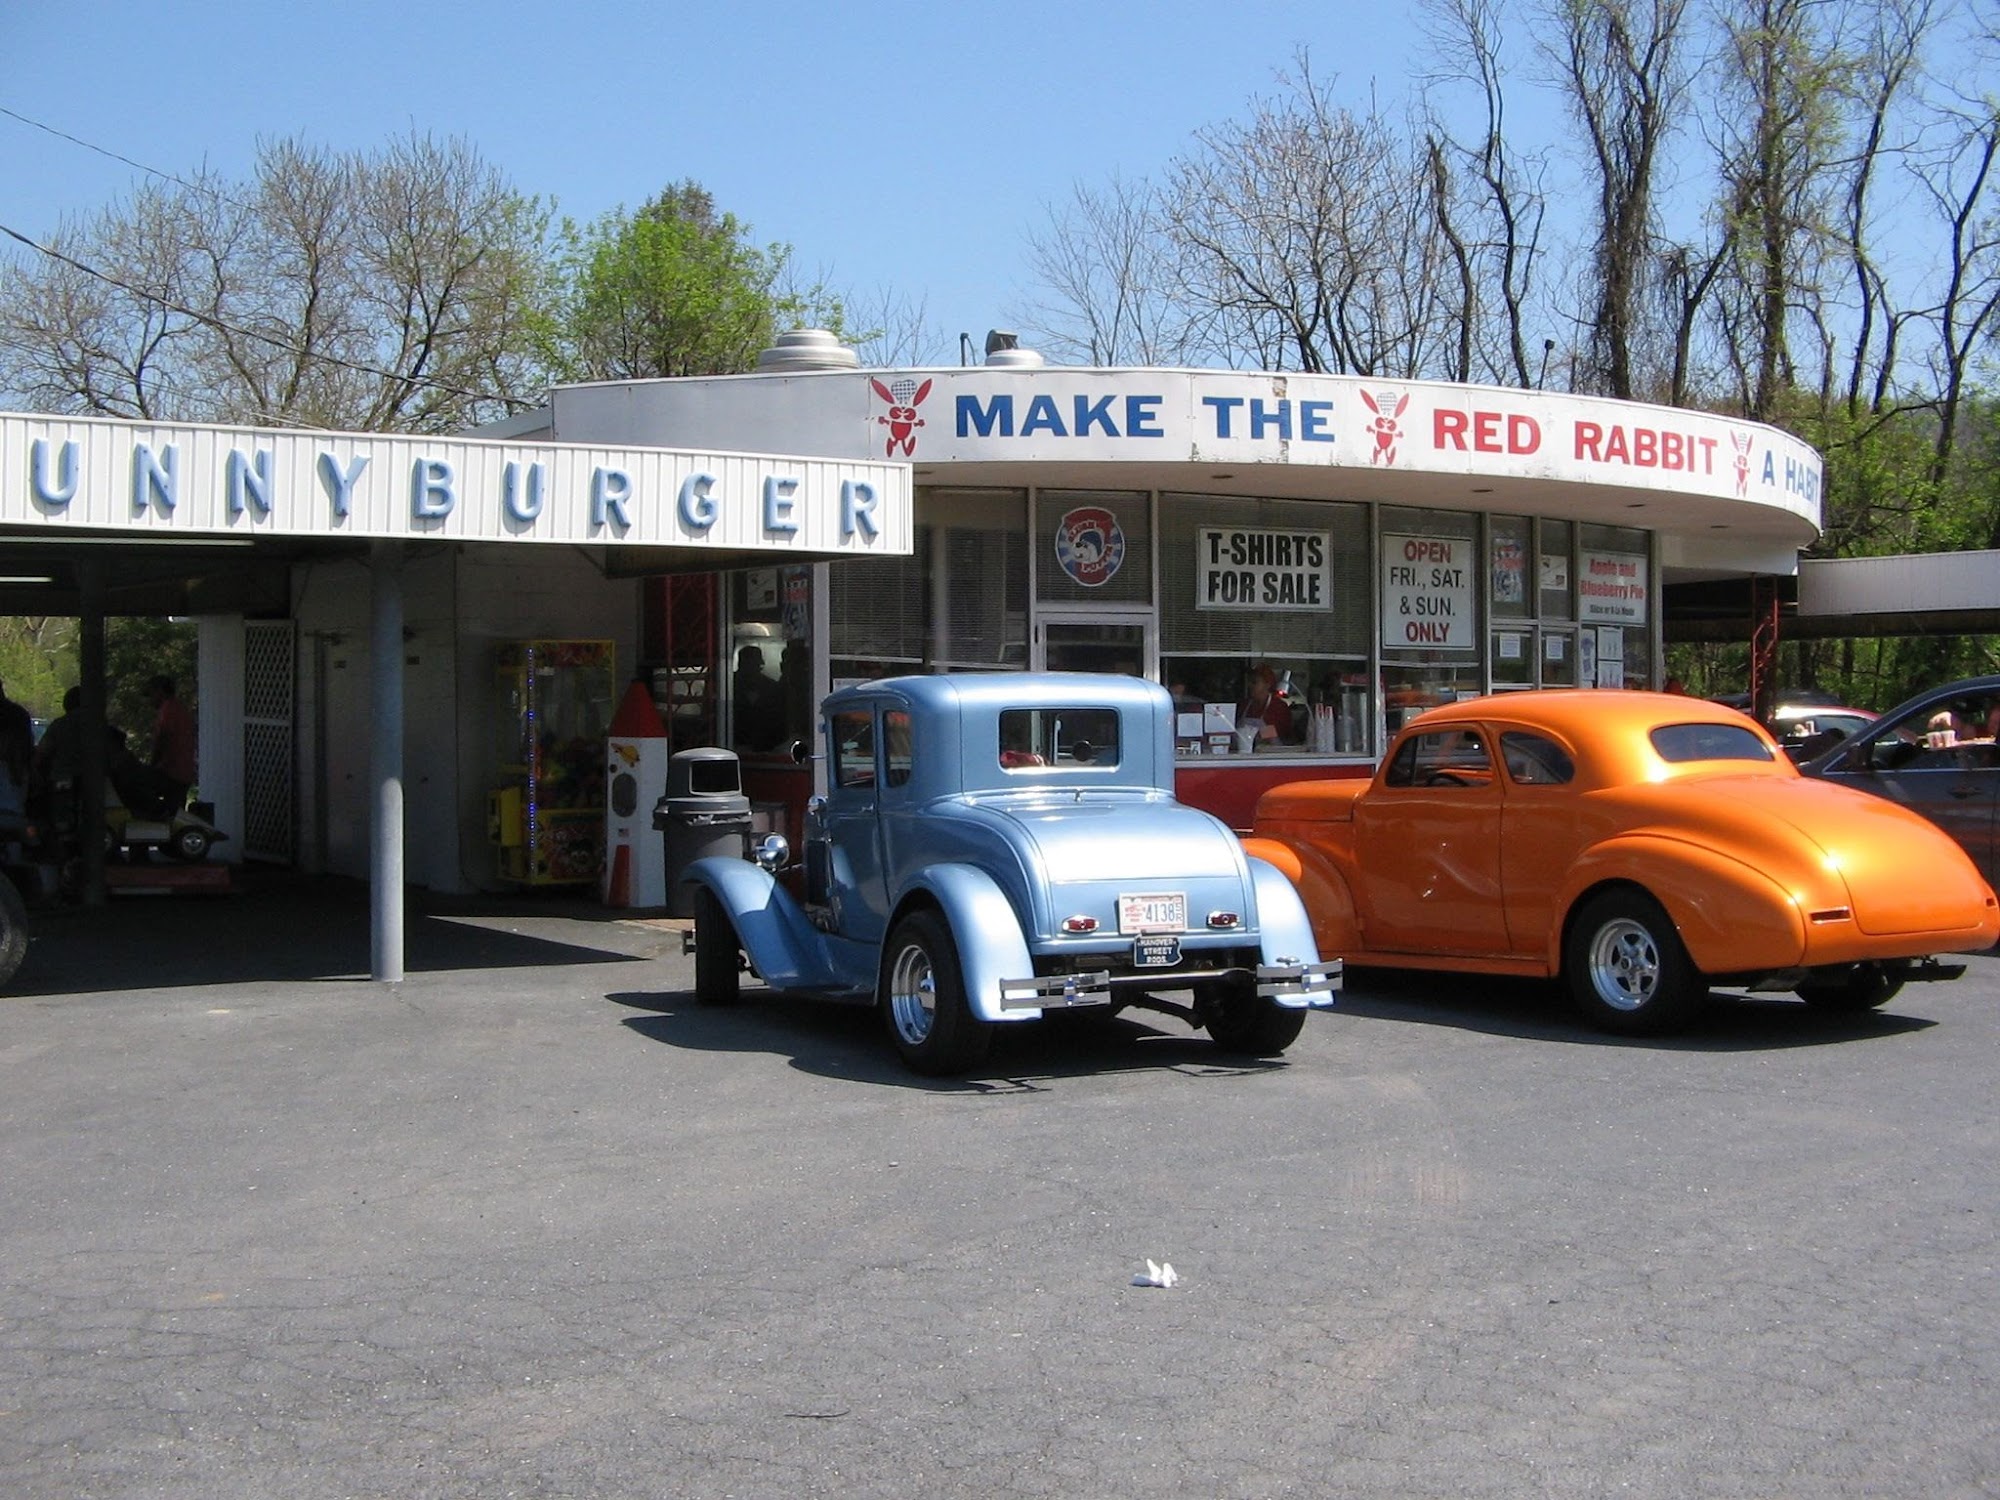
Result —
[[[1878,1006],[1956,978],[2000,902],[1924,818],[1808,780],[1744,714],[1654,692],[1426,710],[1372,780],[1276,786],[1244,840],[1352,964],[1560,976],[1614,1032],[1710,986]]]

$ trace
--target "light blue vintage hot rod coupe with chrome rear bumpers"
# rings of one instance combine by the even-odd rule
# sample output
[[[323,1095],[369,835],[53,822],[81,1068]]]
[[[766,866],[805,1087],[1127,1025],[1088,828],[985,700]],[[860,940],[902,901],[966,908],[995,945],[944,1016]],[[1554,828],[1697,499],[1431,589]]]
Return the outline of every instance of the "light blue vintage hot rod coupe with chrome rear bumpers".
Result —
[[[778,836],[756,862],[682,874],[698,998],[736,1000],[748,956],[772,990],[876,1004],[928,1074],[970,1068],[998,1024],[1076,1006],[1148,1006],[1282,1052],[1332,1004],[1340,962],[1320,962],[1276,868],[1174,800],[1172,714],[1154,682],[1082,672],[834,692],[804,900]]]

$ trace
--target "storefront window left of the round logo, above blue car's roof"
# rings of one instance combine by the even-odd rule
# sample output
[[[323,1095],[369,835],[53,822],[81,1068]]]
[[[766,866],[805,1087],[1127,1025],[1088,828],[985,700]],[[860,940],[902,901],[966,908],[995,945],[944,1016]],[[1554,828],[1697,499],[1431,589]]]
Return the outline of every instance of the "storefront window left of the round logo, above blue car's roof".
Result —
[[[918,490],[908,558],[828,568],[834,682],[1028,664],[1028,496]]]

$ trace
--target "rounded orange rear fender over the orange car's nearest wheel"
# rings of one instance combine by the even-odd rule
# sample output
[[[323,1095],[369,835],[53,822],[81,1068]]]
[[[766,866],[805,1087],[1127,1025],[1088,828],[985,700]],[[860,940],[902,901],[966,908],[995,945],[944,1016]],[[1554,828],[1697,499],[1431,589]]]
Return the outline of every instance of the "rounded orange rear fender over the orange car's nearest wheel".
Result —
[[[1562,918],[1548,934],[1552,974],[1562,968],[1570,916],[1604,886],[1638,886],[1660,902],[1704,974],[1788,968],[1804,960],[1806,918],[1768,874],[1686,840],[1626,834],[1594,844],[1570,866],[1556,900]]]

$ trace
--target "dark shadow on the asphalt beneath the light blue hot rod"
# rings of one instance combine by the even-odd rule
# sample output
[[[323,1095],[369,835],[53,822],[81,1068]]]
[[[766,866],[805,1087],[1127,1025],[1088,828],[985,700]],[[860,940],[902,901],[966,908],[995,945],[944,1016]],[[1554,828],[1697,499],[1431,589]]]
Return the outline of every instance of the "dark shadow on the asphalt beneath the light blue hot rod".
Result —
[[[1172,1070],[1190,1078],[1242,1078],[1286,1068],[1284,1058],[1238,1058],[1206,1036],[1150,1012],[1066,1014],[1000,1026],[992,1050],[962,1078],[924,1078],[896,1056],[874,1006],[776,996],[746,984],[734,1006],[704,1006],[692,992],[606,996],[644,1010],[624,1024],[686,1052],[768,1052],[822,1078],[952,1094],[1030,1094],[1062,1078]],[[1154,1024],[1158,1022],[1158,1024]]]

